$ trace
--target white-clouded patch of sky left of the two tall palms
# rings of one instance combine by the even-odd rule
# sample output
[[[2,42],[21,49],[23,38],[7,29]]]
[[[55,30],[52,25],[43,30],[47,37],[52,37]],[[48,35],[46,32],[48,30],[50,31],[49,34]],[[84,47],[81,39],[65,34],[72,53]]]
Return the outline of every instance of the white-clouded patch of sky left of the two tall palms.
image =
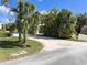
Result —
[[[15,21],[14,12],[10,11],[10,8],[0,6],[0,23],[4,24],[14,21]]]

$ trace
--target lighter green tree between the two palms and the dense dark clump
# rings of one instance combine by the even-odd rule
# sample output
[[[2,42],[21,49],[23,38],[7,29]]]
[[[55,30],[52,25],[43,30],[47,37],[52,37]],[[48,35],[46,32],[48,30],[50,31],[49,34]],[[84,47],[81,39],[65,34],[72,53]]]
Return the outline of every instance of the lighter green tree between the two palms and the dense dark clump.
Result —
[[[39,32],[40,23],[40,12],[36,11],[31,15],[31,22],[29,23],[29,34],[36,34]]]

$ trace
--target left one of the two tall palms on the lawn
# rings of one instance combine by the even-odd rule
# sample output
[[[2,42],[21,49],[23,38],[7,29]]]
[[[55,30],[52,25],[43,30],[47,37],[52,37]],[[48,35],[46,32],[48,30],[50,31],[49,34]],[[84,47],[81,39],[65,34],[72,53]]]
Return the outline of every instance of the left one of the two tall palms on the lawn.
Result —
[[[21,0],[17,0],[18,1],[18,6],[15,9],[12,9],[13,12],[17,13],[17,29],[18,29],[18,32],[19,32],[19,42],[22,41],[22,8],[23,8],[23,4],[22,4],[22,1]]]

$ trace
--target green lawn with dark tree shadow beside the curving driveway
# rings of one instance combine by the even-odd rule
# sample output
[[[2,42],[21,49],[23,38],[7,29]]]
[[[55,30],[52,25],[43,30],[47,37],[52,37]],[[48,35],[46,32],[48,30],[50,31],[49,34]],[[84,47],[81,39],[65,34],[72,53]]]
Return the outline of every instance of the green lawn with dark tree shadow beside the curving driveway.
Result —
[[[18,42],[18,39],[13,36],[0,37],[0,62],[11,59],[12,58],[10,56],[11,53],[19,53],[21,51],[26,51],[28,55],[30,55],[39,52],[43,47],[43,45],[40,42],[32,40],[28,40],[26,44],[29,45],[29,47],[23,47],[23,45],[20,42]]]

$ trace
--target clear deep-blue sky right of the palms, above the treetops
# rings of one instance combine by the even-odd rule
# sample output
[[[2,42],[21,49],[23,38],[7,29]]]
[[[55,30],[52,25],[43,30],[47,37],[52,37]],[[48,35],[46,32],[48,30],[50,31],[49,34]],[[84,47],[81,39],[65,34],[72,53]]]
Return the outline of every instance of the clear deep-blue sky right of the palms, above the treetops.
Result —
[[[36,6],[36,10],[68,9],[74,13],[87,11],[87,0],[30,0]]]

